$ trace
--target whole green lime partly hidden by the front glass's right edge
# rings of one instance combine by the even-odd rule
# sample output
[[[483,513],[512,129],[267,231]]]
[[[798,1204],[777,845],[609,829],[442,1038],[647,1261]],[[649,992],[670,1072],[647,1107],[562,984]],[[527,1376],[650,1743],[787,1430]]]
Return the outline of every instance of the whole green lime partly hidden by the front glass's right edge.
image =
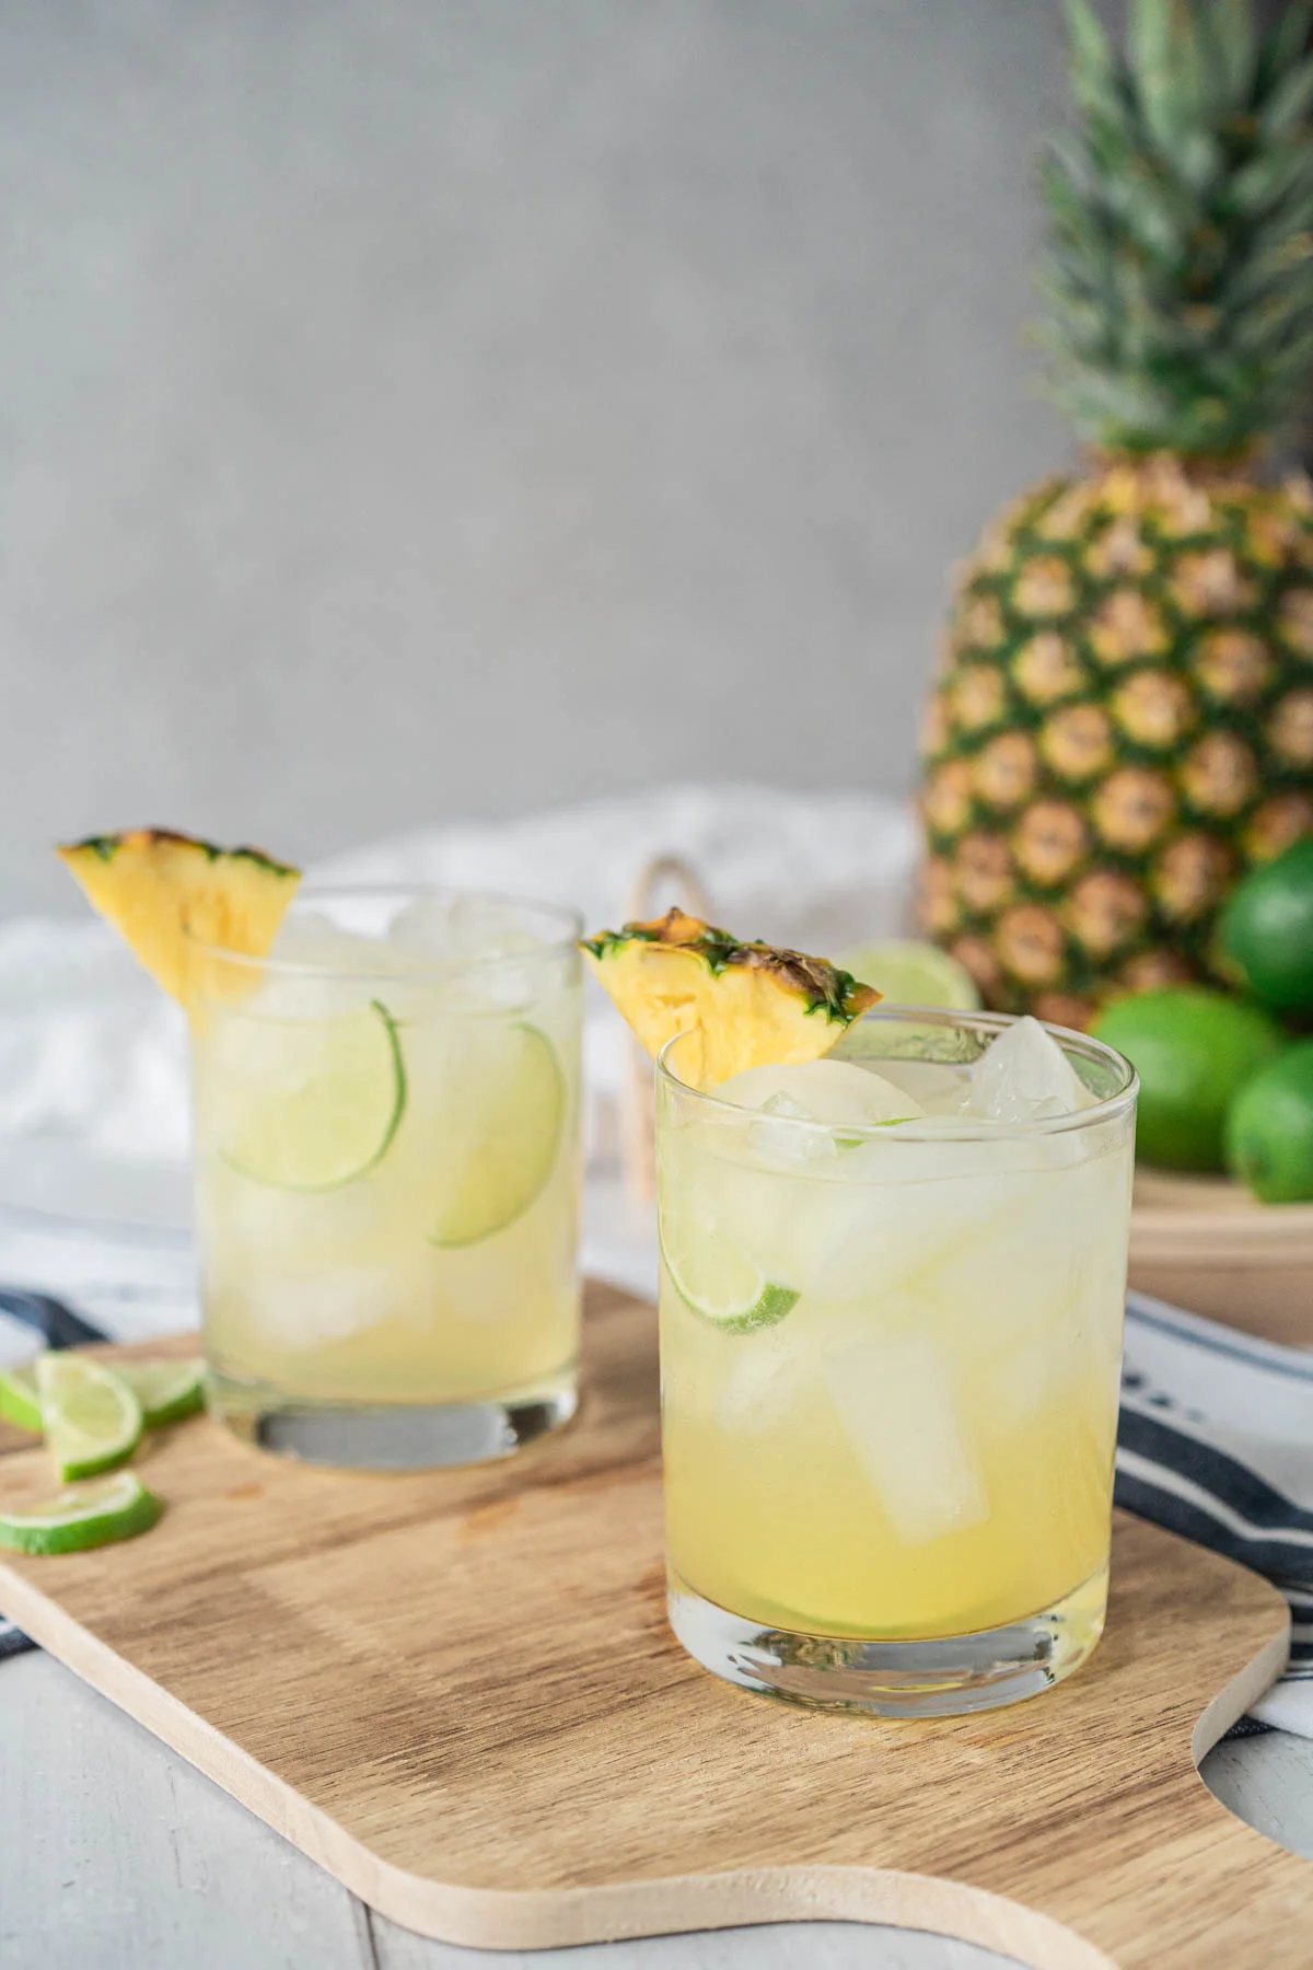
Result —
[[[1136,1150],[1169,1170],[1220,1170],[1232,1097],[1287,1044],[1256,1005],[1203,985],[1114,999],[1096,1017],[1098,1040],[1140,1076]]]

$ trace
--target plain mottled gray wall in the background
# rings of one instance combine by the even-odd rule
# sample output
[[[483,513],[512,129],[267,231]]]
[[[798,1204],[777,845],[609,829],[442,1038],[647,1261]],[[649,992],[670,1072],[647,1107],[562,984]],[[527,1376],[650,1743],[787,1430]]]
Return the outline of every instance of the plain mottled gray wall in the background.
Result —
[[[0,908],[911,780],[1020,343],[1055,0],[0,0]]]

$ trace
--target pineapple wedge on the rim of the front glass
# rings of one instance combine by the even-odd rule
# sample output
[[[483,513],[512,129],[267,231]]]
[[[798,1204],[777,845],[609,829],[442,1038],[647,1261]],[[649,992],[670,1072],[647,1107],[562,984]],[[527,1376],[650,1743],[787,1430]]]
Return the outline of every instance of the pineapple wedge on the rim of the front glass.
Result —
[[[581,950],[654,1060],[693,1034],[681,1080],[703,1089],[744,1068],[819,1060],[880,999],[823,957],[740,944],[683,910],[602,930]]]

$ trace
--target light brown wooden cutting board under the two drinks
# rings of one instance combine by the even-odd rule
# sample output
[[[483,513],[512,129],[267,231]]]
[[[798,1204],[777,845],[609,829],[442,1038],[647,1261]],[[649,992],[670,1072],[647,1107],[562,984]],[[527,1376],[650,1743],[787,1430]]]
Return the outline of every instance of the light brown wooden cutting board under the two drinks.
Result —
[[[163,1432],[163,1523],[6,1556],[0,1609],[423,1935],[841,1917],[1035,1970],[1307,1970],[1313,1868],[1195,1769],[1282,1667],[1272,1588],[1124,1519],[1108,1635],[1047,1696],[894,1724],[732,1690],[665,1627],[654,1328],[594,1288],[583,1418],[510,1466],[344,1478]],[[8,1501],[49,1489],[24,1442]]]

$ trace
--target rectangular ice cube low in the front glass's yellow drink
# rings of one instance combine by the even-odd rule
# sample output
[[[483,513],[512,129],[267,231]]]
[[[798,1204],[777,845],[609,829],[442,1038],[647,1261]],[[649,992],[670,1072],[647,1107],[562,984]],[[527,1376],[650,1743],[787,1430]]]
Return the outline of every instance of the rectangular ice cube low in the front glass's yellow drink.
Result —
[[[953,1379],[925,1334],[872,1334],[825,1359],[825,1381],[896,1539],[925,1546],[982,1525],[990,1501]]]

